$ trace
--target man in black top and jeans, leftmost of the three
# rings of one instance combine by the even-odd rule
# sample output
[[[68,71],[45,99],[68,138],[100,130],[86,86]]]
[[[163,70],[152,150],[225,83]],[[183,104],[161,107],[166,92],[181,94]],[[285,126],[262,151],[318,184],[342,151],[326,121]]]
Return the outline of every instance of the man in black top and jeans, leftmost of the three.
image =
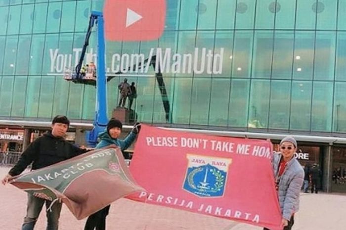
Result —
[[[32,142],[22,153],[16,165],[2,179],[2,184],[8,183],[14,176],[21,174],[32,163],[32,169],[40,169],[60,161],[67,160],[86,152],[67,142],[63,137],[67,132],[70,121],[65,116],[56,116],[52,121],[52,131],[44,134]],[[28,193],[27,215],[24,218],[22,230],[33,230],[40,215],[43,204],[46,209],[51,202]],[[51,205],[51,211],[46,210],[46,230],[57,230],[61,211],[61,203],[55,202]]]

